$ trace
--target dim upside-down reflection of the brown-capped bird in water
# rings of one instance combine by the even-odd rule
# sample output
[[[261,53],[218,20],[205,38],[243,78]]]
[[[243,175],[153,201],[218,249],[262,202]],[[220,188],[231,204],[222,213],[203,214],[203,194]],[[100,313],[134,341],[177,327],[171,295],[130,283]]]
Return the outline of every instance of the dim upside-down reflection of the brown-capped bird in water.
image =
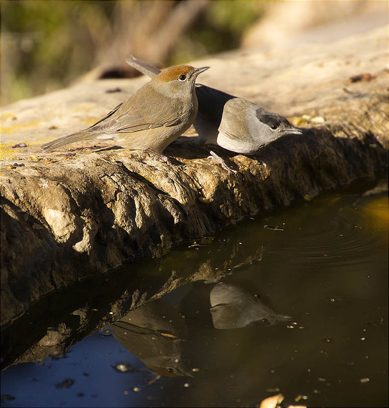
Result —
[[[163,299],[156,299],[112,323],[113,335],[159,375],[192,376],[182,360],[188,339],[184,319]]]

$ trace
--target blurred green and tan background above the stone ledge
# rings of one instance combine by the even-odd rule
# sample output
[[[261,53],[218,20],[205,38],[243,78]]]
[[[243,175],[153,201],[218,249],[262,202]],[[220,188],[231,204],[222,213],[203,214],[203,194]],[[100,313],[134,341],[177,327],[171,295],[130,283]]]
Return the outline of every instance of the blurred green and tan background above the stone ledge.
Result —
[[[2,1],[1,103],[234,49],[328,42],[387,24],[386,1]]]

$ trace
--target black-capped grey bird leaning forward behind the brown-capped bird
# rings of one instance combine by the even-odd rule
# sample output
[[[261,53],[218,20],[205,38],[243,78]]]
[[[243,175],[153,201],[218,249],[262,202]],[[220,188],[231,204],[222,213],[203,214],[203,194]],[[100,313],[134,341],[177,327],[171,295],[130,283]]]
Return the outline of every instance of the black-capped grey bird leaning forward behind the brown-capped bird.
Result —
[[[127,63],[155,77],[158,68],[132,56]],[[288,119],[252,102],[197,84],[198,114],[193,123],[206,142],[244,155],[253,155],[283,135],[302,135]]]

